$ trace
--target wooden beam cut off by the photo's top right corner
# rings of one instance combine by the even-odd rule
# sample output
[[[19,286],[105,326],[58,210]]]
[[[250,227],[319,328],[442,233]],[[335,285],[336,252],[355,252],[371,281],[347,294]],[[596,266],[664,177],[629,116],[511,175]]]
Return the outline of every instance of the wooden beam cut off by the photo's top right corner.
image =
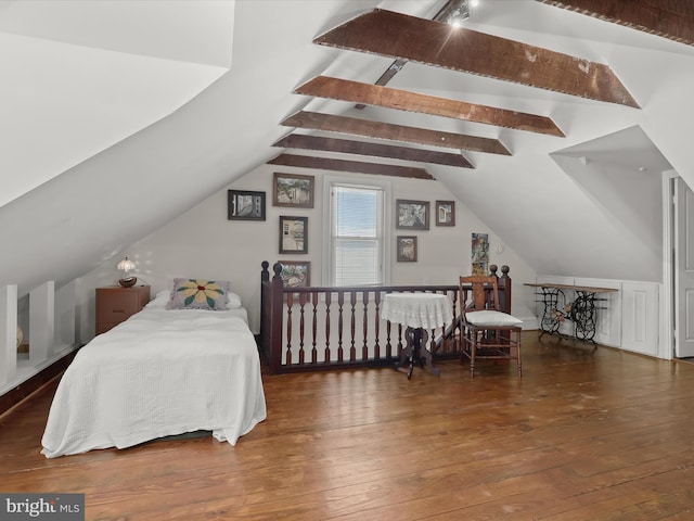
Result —
[[[694,3],[690,0],[537,0],[596,18],[694,45]]]

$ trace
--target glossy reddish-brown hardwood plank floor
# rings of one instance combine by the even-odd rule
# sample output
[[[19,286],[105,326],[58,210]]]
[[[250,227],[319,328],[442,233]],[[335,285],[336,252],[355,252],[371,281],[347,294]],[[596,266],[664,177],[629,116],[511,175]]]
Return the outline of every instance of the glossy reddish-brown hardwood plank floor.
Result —
[[[523,335],[513,363],[266,376],[268,419],[46,459],[55,382],[0,418],[0,492],[89,520],[694,519],[694,365]]]

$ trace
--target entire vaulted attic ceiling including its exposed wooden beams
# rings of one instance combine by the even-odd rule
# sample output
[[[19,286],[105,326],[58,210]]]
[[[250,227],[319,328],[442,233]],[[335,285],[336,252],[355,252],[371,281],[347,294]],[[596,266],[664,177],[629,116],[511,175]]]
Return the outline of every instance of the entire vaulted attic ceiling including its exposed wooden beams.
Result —
[[[693,11],[1,1],[0,285],[77,277],[268,163],[442,182],[538,272],[657,280],[632,209],[664,170],[694,185]]]

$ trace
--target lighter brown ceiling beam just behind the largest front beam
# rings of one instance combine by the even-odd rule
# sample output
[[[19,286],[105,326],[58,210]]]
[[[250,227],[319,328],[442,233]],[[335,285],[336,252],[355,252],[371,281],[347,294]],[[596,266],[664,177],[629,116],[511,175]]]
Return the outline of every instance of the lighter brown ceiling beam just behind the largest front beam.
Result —
[[[448,98],[438,98],[436,96],[330,76],[317,76],[294,89],[294,92],[564,137],[564,132],[560,130],[552,119],[545,116],[477,105]]]

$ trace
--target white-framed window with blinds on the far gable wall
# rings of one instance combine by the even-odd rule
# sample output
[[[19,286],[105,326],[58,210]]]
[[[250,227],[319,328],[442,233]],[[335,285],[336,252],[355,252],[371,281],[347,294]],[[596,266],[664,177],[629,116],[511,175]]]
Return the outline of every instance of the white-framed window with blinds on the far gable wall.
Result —
[[[386,201],[388,185],[325,180],[330,216],[327,285],[374,285],[386,281]]]

